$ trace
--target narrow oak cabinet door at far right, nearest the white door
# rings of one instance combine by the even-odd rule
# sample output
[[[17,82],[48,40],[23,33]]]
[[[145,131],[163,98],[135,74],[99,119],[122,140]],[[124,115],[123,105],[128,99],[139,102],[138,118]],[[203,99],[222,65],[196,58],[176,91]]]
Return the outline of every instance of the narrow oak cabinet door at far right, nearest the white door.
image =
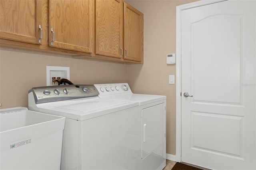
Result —
[[[143,62],[143,14],[124,3],[124,59]]]

